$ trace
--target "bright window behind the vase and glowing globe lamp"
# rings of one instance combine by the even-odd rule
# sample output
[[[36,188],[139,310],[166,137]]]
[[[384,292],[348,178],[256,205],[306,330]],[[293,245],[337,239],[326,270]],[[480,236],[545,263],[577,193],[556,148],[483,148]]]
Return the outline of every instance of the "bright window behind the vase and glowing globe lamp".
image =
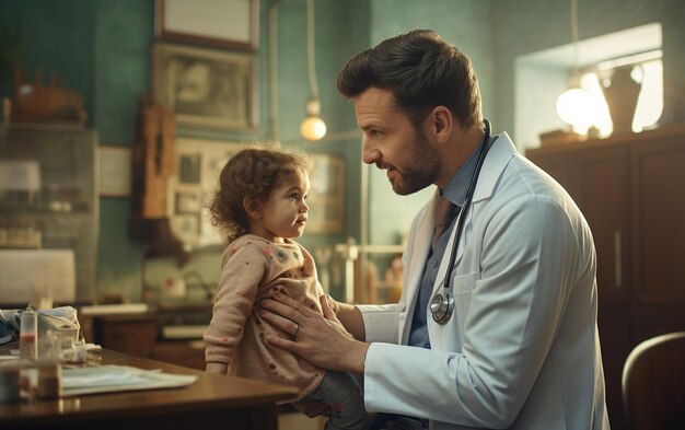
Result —
[[[564,45],[516,57],[514,62],[514,141],[520,150],[539,146],[539,135],[569,130],[557,115],[556,103],[569,90],[576,69],[573,45]],[[615,69],[632,66],[641,82],[634,131],[655,124],[663,109],[662,27],[645,24],[602,36],[581,39],[578,68],[581,86],[601,101],[596,114],[599,136],[611,135],[613,125],[602,85]],[[576,81],[577,82],[577,81]],[[585,132],[587,130],[577,130]]]

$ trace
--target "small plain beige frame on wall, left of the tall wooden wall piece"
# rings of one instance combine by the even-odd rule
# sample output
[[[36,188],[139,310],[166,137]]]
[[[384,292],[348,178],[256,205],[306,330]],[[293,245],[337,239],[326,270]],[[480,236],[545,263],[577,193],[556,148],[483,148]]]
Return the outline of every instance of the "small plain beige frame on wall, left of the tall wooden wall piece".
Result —
[[[131,194],[131,150],[125,147],[100,146],[100,195],[129,197]]]

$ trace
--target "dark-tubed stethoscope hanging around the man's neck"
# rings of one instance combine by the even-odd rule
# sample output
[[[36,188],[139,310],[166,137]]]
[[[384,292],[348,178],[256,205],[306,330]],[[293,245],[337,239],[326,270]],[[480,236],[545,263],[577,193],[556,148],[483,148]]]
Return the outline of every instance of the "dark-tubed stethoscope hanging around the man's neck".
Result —
[[[466,211],[471,206],[471,200],[474,197],[474,190],[476,189],[476,183],[478,182],[478,176],[480,175],[480,167],[483,167],[483,162],[489,150],[489,141],[490,141],[490,121],[487,119],[483,120],[485,123],[485,138],[483,139],[483,147],[480,148],[480,154],[478,154],[478,162],[476,164],[476,170],[474,171],[474,175],[471,177],[471,184],[468,184],[468,189],[466,190],[466,199],[464,200],[464,207],[456,218],[456,225],[454,233],[454,243],[452,244],[452,253],[450,254],[450,263],[448,265],[448,271],[445,271],[444,279],[442,281],[442,293],[437,293],[433,295],[433,299],[430,301],[430,313],[433,316],[433,321],[440,325],[445,325],[452,317],[454,313],[454,294],[452,294],[452,283],[450,274],[452,274],[452,269],[454,268],[454,263],[456,259],[456,249],[458,248],[460,237],[462,235],[462,230],[464,229],[464,221],[466,219]]]

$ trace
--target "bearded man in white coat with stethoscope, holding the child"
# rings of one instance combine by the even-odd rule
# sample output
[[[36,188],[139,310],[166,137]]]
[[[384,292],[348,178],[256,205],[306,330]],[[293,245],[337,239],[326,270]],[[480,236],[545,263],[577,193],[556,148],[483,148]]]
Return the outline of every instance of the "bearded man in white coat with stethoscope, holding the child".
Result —
[[[295,336],[269,344],[362,374],[367,409],[396,415],[388,429],[608,429],[590,229],[507,133],[490,135],[469,59],[417,30],[353,57],[338,91],[364,163],[399,195],[436,194],[411,225],[399,303],[327,298],[323,317],[275,294],[262,315]]]

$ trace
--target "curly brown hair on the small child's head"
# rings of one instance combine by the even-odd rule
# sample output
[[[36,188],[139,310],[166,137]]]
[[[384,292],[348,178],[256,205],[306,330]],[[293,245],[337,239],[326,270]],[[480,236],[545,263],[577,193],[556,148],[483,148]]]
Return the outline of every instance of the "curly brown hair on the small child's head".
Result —
[[[208,209],[210,221],[232,242],[249,230],[244,201],[248,197],[265,204],[274,188],[307,172],[311,161],[304,153],[274,144],[244,149],[229,159],[219,175],[219,186]]]

